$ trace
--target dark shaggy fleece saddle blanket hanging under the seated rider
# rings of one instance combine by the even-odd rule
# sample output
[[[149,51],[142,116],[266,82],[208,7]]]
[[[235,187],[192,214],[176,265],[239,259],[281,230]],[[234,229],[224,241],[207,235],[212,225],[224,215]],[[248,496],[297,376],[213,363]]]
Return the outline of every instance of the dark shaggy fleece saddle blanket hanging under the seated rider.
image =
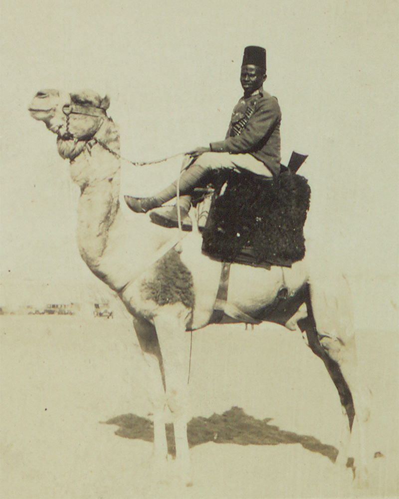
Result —
[[[308,181],[285,169],[267,179],[224,170],[214,182],[202,251],[226,262],[286,265],[305,254],[303,227],[310,204]]]

